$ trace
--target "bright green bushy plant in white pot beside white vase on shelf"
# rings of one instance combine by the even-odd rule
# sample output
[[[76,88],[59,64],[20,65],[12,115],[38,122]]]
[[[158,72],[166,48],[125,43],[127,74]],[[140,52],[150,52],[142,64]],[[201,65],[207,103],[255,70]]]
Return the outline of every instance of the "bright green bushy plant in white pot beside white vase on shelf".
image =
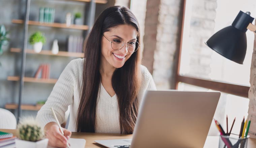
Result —
[[[42,50],[42,47],[45,41],[46,41],[45,36],[39,31],[32,34],[29,38],[29,43],[33,45],[34,51],[36,53],[39,53]]]

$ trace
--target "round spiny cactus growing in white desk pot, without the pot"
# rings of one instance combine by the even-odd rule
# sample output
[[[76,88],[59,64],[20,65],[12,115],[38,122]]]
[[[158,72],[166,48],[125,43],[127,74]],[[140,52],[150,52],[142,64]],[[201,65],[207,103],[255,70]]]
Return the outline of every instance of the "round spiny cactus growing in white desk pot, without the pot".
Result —
[[[23,118],[18,124],[19,138],[26,141],[39,141],[43,138],[42,127],[33,117]]]

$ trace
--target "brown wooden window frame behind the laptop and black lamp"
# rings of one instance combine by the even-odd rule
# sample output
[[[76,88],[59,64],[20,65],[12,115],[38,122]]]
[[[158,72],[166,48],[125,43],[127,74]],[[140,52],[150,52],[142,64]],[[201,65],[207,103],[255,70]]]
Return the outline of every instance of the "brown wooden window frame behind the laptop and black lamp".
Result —
[[[180,44],[178,47],[178,61],[177,67],[175,69],[175,89],[178,89],[179,82],[183,82],[190,85],[195,85],[203,88],[213,89],[217,91],[221,91],[223,93],[232,94],[236,96],[241,96],[248,98],[248,92],[250,86],[228,83],[223,81],[215,81],[209,79],[195,78],[186,75],[180,75],[180,62],[181,62],[181,50],[182,50],[182,38],[183,38],[183,28],[184,28],[184,20],[185,20],[185,10],[186,10],[186,0],[183,1],[182,4],[182,22],[180,29]],[[210,50],[210,48],[209,48]]]

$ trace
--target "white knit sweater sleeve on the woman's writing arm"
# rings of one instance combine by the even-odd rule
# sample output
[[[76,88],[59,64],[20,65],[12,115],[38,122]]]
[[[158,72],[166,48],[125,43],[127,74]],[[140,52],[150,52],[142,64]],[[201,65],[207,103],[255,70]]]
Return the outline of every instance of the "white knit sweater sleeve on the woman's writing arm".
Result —
[[[38,111],[36,119],[44,128],[49,122],[56,122],[51,107],[60,122],[65,120],[65,112],[73,103],[73,86],[76,80],[76,65],[71,61],[61,73],[46,103]]]

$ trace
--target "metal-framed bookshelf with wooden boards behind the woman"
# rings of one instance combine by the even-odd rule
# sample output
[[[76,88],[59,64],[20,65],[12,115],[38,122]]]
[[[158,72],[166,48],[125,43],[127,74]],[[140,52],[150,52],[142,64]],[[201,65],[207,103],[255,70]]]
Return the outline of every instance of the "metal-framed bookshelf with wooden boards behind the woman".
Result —
[[[42,50],[39,53],[34,52],[33,49],[28,49],[27,48],[27,42],[28,42],[28,38],[29,35],[28,33],[31,30],[35,30],[36,28],[38,29],[38,31],[40,31],[41,29],[43,30],[56,30],[56,32],[60,32],[63,29],[63,34],[64,35],[75,35],[78,32],[81,32],[83,34],[83,37],[86,38],[86,36],[89,33],[89,29],[92,27],[93,23],[94,23],[94,18],[95,18],[95,10],[96,10],[96,5],[99,4],[106,4],[108,3],[108,0],[65,0],[65,1],[69,1],[73,2],[74,5],[81,5],[80,2],[86,2],[86,4],[83,4],[85,7],[80,8],[80,10],[82,10],[81,12],[84,13],[84,24],[83,25],[74,25],[71,24],[69,27],[66,26],[66,23],[45,23],[45,22],[39,22],[37,15],[35,15],[34,17],[30,17],[30,14],[34,14],[34,13],[38,13],[39,10],[32,8],[32,7],[44,7],[44,5],[42,3],[37,3],[35,1],[33,1],[33,3],[31,2],[32,0],[28,0],[26,1],[26,4],[24,3],[24,5],[26,5],[25,7],[25,14],[20,15],[17,19],[11,19],[9,18],[9,21],[11,21],[13,24],[20,24],[20,25],[14,25],[16,27],[23,27],[24,29],[24,37],[21,38],[23,40],[23,44],[21,46],[18,46],[18,48],[10,48],[9,51],[13,54],[17,54],[17,55],[21,55],[21,62],[19,64],[21,64],[21,70],[20,70],[20,74],[19,75],[15,75],[15,76],[8,76],[7,80],[8,81],[12,81],[14,83],[18,82],[19,83],[19,93],[18,93],[18,102],[12,102],[12,103],[8,103],[5,104],[5,108],[6,109],[17,109],[18,114],[15,115],[19,121],[19,117],[21,117],[21,113],[22,110],[34,110],[34,111],[38,111],[40,109],[40,106],[38,105],[33,105],[33,103],[29,104],[23,104],[22,100],[23,100],[23,90],[24,87],[26,87],[27,82],[29,83],[37,83],[37,84],[31,84],[33,85],[33,87],[37,87],[40,86],[38,84],[40,83],[48,83],[48,84],[55,84],[57,82],[57,79],[42,79],[42,78],[34,78],[34,77],[26,77],[25,76],[25,67],[26,67],[26,59],[30,60],[31,62],[31,58],[35,59],[35,57],[32,57],[33,55],[37,55],[37,56],[45,56],[45,58],[49,61],[47,61],[47,63],[51,64],[51,60],[54,59],[55,61],[60,59],[60,60],[70,60],[70,58],[60,58],[60,57],[75,57],[75,58],[83,58],[84,57],[84,53],[79,53],[79,52],[67,52],[66,51],[59,51],[58,54],[53,54],[51,50]],[[31,5],[32,3],[32,5]],[[46,3],[46,2],[45,2]],[[47,1],[47,3],[51,3],[51,1]],[[112,5],[113,1],[110,2],[111,4],[106,4],[106,5],[102,5],[100,6],[100,10],[104,9],[104,7],[109,7],[110,5]],[[46,4],[46,6],[49,6],[49,4]],[[62,3],[61,4],[63,8],[67,7],[67,4]],[[66,6],[63,6],[66,5]],[[19,6],[22,7],[22,6]],[[32,9],[31,9],[32,8]],[[73,9],[73,8],[72,8]],[[32,12],[30,12],[30,10]],[[62,9],[59,9],[59,11],[55,12],[61,15],[65,15],[66,14],[62,14],[63,12],[61,11]],[[71,10],[68,10],[69,12],[73,12]],[[58,16],[58,15],[56,15]],[[31,20],[34,21],[30,21],[29,18],[31,18]],[[60,18],[58,18],[60,19]],[[57,20],[58,20],[57,19]],[[65,20],[63,18],[61,18],[61,20],[58,20],[60,22],[65,22]],[[21,26],[23,25],[23,26]],[[41,27],[42,26],[42,27]],[[31,28],[31,29],[30,29]],[[73,33],[74,32],[74,33]],[[62,35],[63,35],[62,34]],[[47,34],[46,34],[47,35]],[[48,36],[50,36],[48,34]],[[58,38],[57,38],[58,39]],[[26,49],[26,50],[23,50]],[[26,55],[31,54],[30,56],[26,57]],[[55,57],[47,57],[47,56],[55,56]],[[42,57],[40,57],[42,58]],[[57,59],[58,58],[58,59]],[[33,62],[33,61],[32,61]],[[55,77],[58,77],[57,75]],[[17,83],[17,84],[18,84]],[[25,98],[24,98],[25,99]],[[35,100],[36,101],[36,100]]]

